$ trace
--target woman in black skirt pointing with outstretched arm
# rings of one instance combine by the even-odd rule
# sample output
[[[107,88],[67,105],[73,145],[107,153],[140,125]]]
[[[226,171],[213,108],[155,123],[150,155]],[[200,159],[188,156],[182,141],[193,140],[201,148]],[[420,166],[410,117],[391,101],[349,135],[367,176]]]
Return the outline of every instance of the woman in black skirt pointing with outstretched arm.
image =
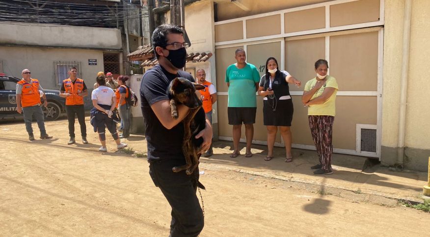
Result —
[[[288,83],[294,83],[297,87],[301,82],[287,71],[279,71],[278,62],[270,57],[266,61],[266,74],[261,77],[258,95],[263,96],[264,125],[267,126],[268,155],[264,159],[270,161],[273,158],[273,145],[276,133],[281,130],[281,136],[285,143],[285,162],[292,162],[291,153],[291,121],[293,120],[293,101],[290,96]]]

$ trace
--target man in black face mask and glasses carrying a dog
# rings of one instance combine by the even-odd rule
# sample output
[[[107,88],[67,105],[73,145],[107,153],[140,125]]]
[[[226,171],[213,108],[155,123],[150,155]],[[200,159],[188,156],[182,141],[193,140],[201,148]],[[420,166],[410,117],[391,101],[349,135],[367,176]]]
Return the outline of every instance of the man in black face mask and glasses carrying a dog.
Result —
[[[188,44],[184,40],[182,28],[170,24],[160,25],[154,30],[152,44],[159,64],[145,73],[140,88],[149,174],[172,207],[170,236],[198,236],[204,226],[202,209],[196,196],[198,168],[191,175],[187,175],[185,170],[172,171],[173,167],[186,164],[182,152],[184,125],[181,121],[189,109],[183,104],[179,105],[179,118],[172,118],[166,92],[170,81],[176,77],[194,82],[188,72],[180,70],[186,63]],[[196,136],[200,137],[203,138],[203,153],[212,140],[209,119],[206,119],[206,128]]]

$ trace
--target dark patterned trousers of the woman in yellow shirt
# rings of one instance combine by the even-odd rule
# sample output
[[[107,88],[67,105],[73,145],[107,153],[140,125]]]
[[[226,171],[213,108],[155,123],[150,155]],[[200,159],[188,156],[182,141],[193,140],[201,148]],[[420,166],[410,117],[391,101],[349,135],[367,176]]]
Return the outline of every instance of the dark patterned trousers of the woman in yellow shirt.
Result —
[[[333,154],[332,133],[333,116],[309,116],[309,127],[311,128],[312,139],[317,148],[322,169],[331,172],[331,155]]]

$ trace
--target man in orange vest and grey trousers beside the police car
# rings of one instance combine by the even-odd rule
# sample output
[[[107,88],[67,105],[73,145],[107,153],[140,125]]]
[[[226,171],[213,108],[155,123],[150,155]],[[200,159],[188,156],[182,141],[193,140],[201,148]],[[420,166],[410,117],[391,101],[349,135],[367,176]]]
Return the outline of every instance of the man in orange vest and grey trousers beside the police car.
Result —
[[[45,117],[41,108],[40,92],[43,88],[39,85],[37,79],[31,78],[31,72],[28,69],[22,71],[23,79],[16,84],[16,105],[17,112],[24,113],[24,122],[28,133],[28,140],[34,141],[33,128],[31,127],[32,117],[37,120],[37,126],[40,130],[40,139],[51,139],[52,137],[46,133]],[[44,106],[48,106],[46,95],[43,94]]]

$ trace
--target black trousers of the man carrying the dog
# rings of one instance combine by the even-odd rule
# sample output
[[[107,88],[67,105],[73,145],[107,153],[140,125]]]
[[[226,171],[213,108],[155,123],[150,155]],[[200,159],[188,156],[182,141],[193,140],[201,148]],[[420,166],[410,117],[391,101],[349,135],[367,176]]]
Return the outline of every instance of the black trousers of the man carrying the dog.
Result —
[[[172,207],[170,237],[194,237],[203,230],[204,217],[196,196],[198,168],[187,175],[185,170],[175,173],[174,166],[185,164],[184,160],[152,161],[149,174]]]

